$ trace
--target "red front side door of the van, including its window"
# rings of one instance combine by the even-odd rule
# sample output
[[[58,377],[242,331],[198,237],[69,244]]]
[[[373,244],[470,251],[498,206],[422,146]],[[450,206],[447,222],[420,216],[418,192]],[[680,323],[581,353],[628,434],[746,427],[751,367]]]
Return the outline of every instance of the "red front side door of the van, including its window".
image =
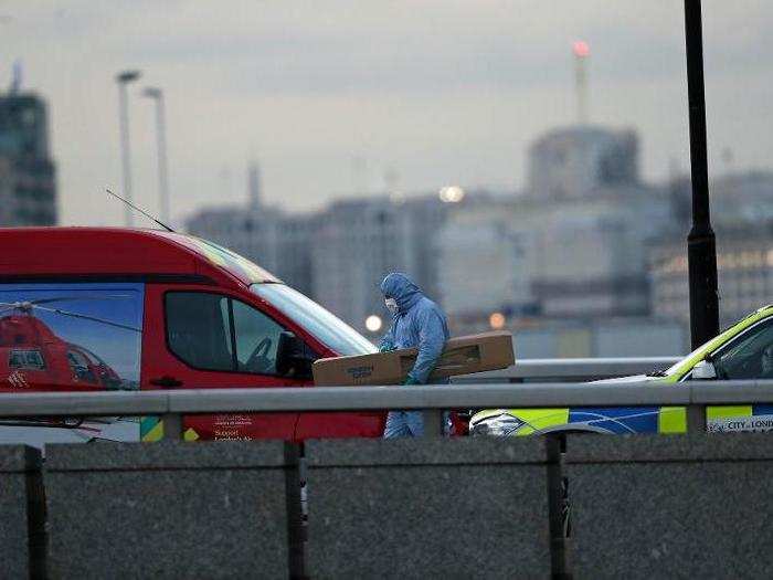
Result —
[[[294,387],[276,368],[286,328],[237,294],[201,286],[149,285],[146,297],[142,389]],[[194,440],[293,439],[298,413],[192,415],[183,435]],[[144,440],[160,434],[144,429]]]

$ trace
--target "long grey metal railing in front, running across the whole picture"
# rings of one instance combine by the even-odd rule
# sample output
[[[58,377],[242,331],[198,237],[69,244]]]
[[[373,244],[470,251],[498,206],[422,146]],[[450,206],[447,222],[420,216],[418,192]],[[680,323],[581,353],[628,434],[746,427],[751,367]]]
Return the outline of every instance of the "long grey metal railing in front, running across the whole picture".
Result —
[[[0,418],[162,415],[179,439],[189,414],[404,409],[431,411],[426,431],[437,434],[444,409],[664,405],[686,407],[688,432],[702,432],[707,405],[754,403],[773,403],[773,380],[13,393],[0,397]]]

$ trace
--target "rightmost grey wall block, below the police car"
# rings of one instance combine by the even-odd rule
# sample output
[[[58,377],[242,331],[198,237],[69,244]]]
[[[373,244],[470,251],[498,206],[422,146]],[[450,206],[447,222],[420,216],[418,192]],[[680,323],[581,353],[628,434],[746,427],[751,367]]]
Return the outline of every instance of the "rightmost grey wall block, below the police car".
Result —
[[[770,434],[570,435],[574,578],[764,578]]]

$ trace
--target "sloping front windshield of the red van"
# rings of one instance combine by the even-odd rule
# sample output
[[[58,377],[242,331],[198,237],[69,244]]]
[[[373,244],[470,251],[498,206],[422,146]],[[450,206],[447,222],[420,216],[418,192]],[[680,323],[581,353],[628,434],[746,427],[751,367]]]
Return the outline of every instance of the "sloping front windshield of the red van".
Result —
[[[373,344],[313,299],[284,284],[253,284],[250,289],[282,310],[340,356],[370,355]]]

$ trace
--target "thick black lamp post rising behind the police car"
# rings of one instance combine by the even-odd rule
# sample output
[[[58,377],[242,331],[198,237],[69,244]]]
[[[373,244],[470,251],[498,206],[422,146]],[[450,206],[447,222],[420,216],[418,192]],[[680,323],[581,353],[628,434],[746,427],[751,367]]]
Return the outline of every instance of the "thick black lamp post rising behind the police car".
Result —
[[[685,0],[685,44],[692,175],[692,229],[687,236],[687,261],[690,281],[690,335],[695,349],[719,334],[717,244],[709,214],[700,0]]]

